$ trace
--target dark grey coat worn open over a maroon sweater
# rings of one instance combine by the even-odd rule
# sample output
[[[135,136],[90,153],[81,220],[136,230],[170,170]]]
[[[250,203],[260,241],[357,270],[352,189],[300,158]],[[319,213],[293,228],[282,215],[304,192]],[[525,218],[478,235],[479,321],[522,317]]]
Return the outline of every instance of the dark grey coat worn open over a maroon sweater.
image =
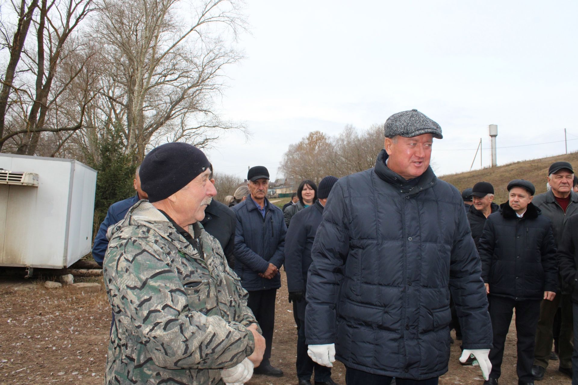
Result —
[[[566,213],[556,201],[552,190],[540,195],[536,195],[532,199],[532,203],[542,211],[542,215],[546,216],[552,221],[552,231],[554,233],[554,242],[556,247],[560,244],[562,239],[562,231],[566,225],[566,220],[570,215],[578,213],[578,194],[570,191],[570,203],[566,207]],[[558,292],[562,294],[569,294],[571,289],[564,285],[558,286]]]

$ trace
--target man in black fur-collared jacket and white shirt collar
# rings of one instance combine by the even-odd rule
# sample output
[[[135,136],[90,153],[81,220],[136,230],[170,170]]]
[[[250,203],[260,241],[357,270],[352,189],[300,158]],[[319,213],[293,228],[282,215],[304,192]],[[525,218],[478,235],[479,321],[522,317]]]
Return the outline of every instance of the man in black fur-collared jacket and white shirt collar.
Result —
[[[509,201],[488,216],[478,251],[490,302],[494,346],[484,384],[497,385],[506,335],[516,308],[518,384],[533,384],[532,362],[540,302],[553,300],[558,284],[552,222],[531,203],[534,186],[511,181]]]

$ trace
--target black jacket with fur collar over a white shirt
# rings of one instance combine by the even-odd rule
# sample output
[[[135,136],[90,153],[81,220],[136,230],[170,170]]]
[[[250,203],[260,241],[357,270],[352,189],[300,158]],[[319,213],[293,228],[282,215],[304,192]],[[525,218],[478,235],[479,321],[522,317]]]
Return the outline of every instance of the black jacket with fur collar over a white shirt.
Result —
[[[500,209],[488,216],[481,234],[481,277],[490,296],[542,300],[558,284],[552,222],[532,203],[522,218],[508,202]]]

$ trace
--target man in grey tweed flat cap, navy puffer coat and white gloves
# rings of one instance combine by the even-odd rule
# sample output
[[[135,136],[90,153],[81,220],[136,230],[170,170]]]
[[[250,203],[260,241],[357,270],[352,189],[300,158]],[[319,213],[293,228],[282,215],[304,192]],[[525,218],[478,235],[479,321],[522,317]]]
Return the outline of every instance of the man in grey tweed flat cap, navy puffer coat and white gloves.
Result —
[[[309,356],[347,368],[348,385],[437,384],[450,357],[450,291],[465,361],[484,376],[487,298],[460,192],[429,159],[440,126],[417,110],[389,117],[375,168],[336,182],[307,279]]]

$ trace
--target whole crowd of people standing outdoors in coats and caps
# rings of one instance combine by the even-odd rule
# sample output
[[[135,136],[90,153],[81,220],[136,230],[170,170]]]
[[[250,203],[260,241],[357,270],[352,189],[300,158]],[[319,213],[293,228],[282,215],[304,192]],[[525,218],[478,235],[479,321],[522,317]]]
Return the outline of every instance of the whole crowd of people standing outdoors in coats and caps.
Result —
[[[553,163],[537,196],[510,181],[498,205],[488,182],[460,194],[436,177],[434,138],[442,129],[419,111],[391,115],[375,167],[304,180],[283,209],[264,166],[223,204],[201,150],[154,148],[94,242],[113,311],[106,383],[283,376],[271,352],[284,266],[299,385],[336,384],[335,360],[347,384],[438,384],[450,328],[460,362],[498,384],[513,309],[518,384],[557,359],[578,385],[572,165]]]

